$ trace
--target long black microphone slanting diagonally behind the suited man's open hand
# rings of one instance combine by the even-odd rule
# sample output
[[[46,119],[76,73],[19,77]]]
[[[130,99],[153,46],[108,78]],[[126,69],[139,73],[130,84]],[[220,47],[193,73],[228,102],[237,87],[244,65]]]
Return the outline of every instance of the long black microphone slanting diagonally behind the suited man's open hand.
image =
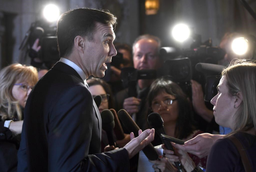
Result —
[[[138,131],[140,130],[140,128],[137,126],[137,124],[134,122],[134,120],[131,118],[128,112],[124,109],[121,109],[118,111],[117,114],[119,119],[124,124],[125,128],[129,132],[133,132],[135,137],[138,137],[139,136]],[[154,161],[158,159],[158,154],[151,143],[149,143],[142,151],[145,153],[146,157],[149,160]]]

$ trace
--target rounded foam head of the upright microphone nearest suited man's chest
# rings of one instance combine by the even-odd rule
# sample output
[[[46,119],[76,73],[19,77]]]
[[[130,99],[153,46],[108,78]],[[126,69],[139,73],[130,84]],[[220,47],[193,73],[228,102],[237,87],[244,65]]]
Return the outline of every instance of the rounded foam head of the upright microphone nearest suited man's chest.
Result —
[[[102,110],[100,116],[103,130],[113,129],[115,127],[114,116],[110,110]]]

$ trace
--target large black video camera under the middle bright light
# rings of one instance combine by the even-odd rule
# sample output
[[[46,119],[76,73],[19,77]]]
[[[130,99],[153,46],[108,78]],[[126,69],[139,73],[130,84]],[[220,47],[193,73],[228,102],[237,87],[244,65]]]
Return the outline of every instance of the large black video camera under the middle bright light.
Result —
[[[192,44],[190,50],[180,50],[174,47],[162,47],[160,56],[164,61],[164,73],[180,85],[183,91],[192,97],[190,80],[196,80],[201,85],[206,83],[204,73],[195,69],[198,63],[217,64],[225,56],[225,51],[219,47],[211,46],[211,40],[195,48]]]

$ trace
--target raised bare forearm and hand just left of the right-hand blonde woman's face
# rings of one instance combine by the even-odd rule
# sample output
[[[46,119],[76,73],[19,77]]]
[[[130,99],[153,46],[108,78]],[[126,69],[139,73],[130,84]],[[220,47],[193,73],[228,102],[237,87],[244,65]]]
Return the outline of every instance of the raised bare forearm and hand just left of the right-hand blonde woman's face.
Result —
[[[190,82],[192,84],[192,104],[195,112],[207,122],[211,122],[213,111],[205,106],[201,84],[195,80],[190,80]]]

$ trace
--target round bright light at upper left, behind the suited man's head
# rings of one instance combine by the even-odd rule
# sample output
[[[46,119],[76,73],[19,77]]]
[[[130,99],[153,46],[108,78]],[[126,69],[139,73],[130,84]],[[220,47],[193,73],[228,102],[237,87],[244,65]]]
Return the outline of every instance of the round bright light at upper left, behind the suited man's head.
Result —
[[[53,21],[56,21],[60,16],[60,10],[58,9],[57,6],[53,4],[49,4],[45,6],[43,14],[47,21],[53,22]]]

